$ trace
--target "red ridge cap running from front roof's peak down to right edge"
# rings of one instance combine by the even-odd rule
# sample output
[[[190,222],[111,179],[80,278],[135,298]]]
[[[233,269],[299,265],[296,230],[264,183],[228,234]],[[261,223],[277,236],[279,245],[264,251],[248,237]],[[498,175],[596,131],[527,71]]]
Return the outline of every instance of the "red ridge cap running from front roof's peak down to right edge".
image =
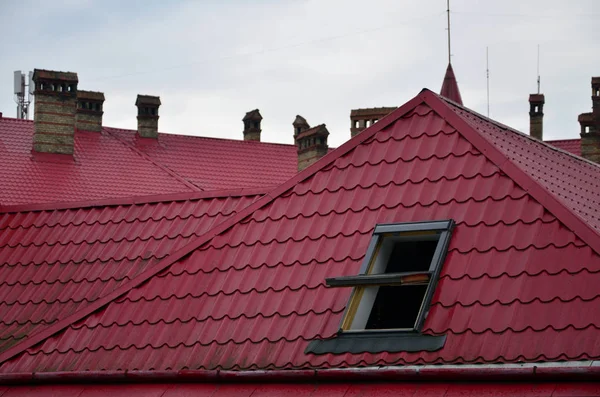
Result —
[[[538,181],[514,164],[514,162],[508,158],[508,156],[500,152],[500,150],[494,146],[494,144],[490,142],[488,138],[472,127],[462,116],[455,113],[450,108],[448,102],[443,98],[429,90],[426,90],[424,93],[424,101],[436,113],[442,116],[442,118],[448,124],[452,125],[459,134],[461,134],[473,146],[475,146],[475,148],[479,150],[486,158],[488,158],[488,160],[496,164],[498,168],[500,168],[510,179],[517,183],[522,189],[524,189],[535,200],[537,200],[546,210],[551,212],[560,222],[573,231],[577,237],[589,245],[590,248],[592,248],[596,253],[600,254],[600,234],[598,234],[598,232],[594,230],[591,225],[589,225],[582,217],[574,213]],[[461,109],[465,108],[461,107]],[[470,109],[466,110],[471,114],[477,114],[476,112],[472,112]],[[501,123],[497,123],[492,120],[490,120],[490,122],[496,126],[502,126],[502,128],[506,128],[512,133],[524,135],[521,132],[504,126]],[[535,140],[535,142],[538,144],[543,144],[543,142],[538,140]],[[554,150],[558,150],[551,145],[544,145]],[[571,154],[571,156],[580,159],[578,156],[573,154]]]

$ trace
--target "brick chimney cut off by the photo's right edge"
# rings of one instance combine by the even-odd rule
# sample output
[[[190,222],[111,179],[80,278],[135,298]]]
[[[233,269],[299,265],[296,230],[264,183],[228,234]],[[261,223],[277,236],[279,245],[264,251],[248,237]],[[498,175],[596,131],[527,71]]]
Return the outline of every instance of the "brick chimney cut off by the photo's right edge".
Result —
[[[592,111],[577,118],[581,126],[581,156],[600,163],[600,77],[592,77]]]

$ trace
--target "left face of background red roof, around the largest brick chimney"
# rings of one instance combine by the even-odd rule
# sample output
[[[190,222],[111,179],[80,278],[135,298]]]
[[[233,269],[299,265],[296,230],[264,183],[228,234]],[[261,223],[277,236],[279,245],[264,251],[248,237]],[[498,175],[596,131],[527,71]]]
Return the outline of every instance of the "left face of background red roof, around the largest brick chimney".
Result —
[[[105,134],[77,132],[74,161],[33,155],[32,139],[33,121],[0,118],[0,205],[200,190]]]

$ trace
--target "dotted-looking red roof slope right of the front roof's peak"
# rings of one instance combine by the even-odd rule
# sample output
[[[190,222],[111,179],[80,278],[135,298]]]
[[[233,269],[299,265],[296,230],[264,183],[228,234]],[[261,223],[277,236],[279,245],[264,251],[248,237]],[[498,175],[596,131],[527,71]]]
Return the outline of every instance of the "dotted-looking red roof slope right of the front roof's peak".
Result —
[[[449,106],[513,164],[600,233],[600,165],[540,144],[528,135],[489,122],[468,109]]]

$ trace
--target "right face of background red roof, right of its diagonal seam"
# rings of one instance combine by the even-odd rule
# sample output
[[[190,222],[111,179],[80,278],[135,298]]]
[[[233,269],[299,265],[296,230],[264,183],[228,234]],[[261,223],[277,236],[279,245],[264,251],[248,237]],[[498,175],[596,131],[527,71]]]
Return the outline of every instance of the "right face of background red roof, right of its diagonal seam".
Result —
[[[158,134],[105,128],[203,190],[279,185],[298,172],[295,145]]]

